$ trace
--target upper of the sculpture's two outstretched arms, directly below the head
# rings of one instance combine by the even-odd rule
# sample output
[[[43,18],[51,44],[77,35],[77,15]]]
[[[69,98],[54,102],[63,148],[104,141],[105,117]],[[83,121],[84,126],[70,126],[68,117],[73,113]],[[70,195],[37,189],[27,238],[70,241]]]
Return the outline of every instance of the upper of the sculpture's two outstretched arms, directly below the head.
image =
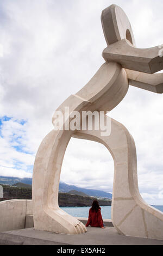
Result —
[[[159,46],[140,49],[123,39],[106,47],[102,56],[106,62],[117,62],[124,69],[153,74],[163,69],[163,57],[159,56],[159,51]]]

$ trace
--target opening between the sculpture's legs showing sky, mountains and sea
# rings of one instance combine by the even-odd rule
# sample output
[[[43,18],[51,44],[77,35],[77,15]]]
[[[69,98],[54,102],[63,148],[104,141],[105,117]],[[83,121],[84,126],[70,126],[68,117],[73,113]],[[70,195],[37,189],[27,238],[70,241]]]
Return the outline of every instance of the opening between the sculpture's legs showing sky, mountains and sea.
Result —
[[[59,206],[62,210],[67,211],[68,214],[74,217],[88,217],[89,208],[93,202],[92,197],[95,197],[102,207],[103,218],[111,218],[111,202],[109,199],[112,198],[114,160],[108,151],[103,144],[95,141],[73,137],[70,139],[60,175]],[[65,188],[65,184],[68,184],[69,187]],[[80,209],[64,208],[63,201],[60,203],[60,192],[64,192],[64,188],[66,193],[76,194],[79,191],[79,195],[85,196],[86,208],[83,208],[82,211]],[[97,192],[90,190],[96,190]],[[64,197],[63,194],[61,196]],[[88,200],[86,196],[89,197]],[[107,197],[108,199],[106,199]],[[74,197],[72,196],[72,198]],[[80,197],[77,198],[81,200]],[[71,198],[68,198],[68,200],[68,204],[72,203]],[[83,202],[74,202],[72,206],[84,205]],[[72,212],[73,210],[75,212]]]

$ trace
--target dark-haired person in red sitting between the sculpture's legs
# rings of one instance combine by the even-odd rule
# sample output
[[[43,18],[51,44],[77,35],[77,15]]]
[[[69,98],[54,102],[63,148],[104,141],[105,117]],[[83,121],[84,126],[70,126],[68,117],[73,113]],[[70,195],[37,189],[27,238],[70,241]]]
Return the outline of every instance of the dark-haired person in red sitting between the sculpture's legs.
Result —
[[[91,227],[105,228],[101,215],[101,208],[99,207],[97,200],[93,201],[92,207],[89,210],[89,219],[86,223],[86,227],[89,225],[91,225]]]

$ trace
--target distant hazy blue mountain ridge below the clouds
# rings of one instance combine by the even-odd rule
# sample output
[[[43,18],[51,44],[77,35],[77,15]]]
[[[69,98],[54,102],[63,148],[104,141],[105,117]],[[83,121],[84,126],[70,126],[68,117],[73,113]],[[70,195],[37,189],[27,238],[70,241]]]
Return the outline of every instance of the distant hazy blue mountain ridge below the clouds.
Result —
[[[16,184],[18,182],[24,183],[24,184],[29,184],[32,185],[32,178],[16,178],[16,177],[7,177],[7,176],[0,176],[0,184],[7,184],[7,185],[13,185]],[[68,192],[70,190],[76,190],[76,191],[80,191],[83,192],[85,194],[87,194],[90,197],[102,197],[102,198],[112,198],[112,194],[111,193],[107,193],[101,190],[90,190],[87,188],[82,188],[82,187],[77,187],[74,185],[68,185],[64,182],[60,182],[59,183],[59,191],[60,192]]]

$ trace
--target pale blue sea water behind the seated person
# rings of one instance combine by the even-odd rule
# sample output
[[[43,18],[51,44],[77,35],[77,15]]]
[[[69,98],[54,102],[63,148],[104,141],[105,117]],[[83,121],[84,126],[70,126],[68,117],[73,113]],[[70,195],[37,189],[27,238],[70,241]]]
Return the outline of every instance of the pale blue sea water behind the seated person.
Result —
[[[163,205],[152,205],[154,208],[163,212]],[[60,207],[74,217],[88,217],[90,206],[84,207]],[[103,218],[111,218],[111,206],[101,206],[101,214]]]

